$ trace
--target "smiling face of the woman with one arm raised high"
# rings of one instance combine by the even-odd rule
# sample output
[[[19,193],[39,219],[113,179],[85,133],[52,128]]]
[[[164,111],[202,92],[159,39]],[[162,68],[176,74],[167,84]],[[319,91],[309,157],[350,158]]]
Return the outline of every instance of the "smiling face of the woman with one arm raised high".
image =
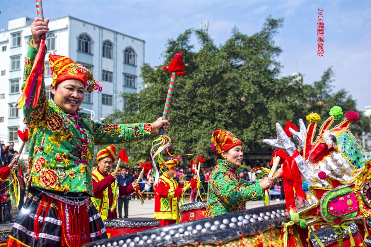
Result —
[[[55,86],[50,86],[52,94],[54,94],[54,102],[62,110],[69,114],[75,113],[79,109],[85,92],[85,85],[82,81],[76,79],[68,79],[60,82],[57,89]]]

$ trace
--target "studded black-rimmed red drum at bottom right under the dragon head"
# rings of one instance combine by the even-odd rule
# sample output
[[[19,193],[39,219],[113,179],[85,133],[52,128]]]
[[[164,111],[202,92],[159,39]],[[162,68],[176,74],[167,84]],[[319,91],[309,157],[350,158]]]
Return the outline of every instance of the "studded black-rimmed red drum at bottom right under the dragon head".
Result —
[[[359,233],[358,226],[354,223],[348,223],[347,225],[352,232],[355,246],[366,246],[361,234]],[[335,247],[335,246],[337,247],[338,246],[338,235],[334,233],[334,228],[332,228],[331,226],[322,227],[318,231],[314,231],[314,233],[316,234],[318,239],[322,242],[324,247]],[[313,234],[311,234],[311,241],[312,241],[313,247],[320,246],[316,238],[313,236]],[[351,246],[348,231],[343,231],[343,246],[344,247]]]

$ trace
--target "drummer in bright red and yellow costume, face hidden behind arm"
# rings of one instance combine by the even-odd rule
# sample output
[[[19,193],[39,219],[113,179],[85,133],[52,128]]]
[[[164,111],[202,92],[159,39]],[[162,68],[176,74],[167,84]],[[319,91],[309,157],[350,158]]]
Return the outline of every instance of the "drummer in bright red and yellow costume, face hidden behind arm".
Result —
[[[167,161],[167,167],[175,168],[179,161],[179,159]],[[160,176],[155,186],[155,213],[153,217],[160,221],[161,226],[179,222],[178,197],[183,192],[183,184],[179,184],[173,177],[174,173],[168,170]]]

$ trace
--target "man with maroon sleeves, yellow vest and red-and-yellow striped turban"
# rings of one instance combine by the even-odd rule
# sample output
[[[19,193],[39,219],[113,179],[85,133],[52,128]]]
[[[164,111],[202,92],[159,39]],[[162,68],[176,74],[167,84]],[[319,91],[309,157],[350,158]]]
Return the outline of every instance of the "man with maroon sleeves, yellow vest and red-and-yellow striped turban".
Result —
[[[134,192],[134,188],[138,188],[135,180],[133,183],[122,186],[116,178],[117,171],[109,173],[112,164],[115,162],[116,148],[114,145],[99,151],[96,155],[98,168],[92,172],[94,197],[91,198],[94,206],[101,214],[102,220],[107,218],[117,218],[117,197],[127,196]]]

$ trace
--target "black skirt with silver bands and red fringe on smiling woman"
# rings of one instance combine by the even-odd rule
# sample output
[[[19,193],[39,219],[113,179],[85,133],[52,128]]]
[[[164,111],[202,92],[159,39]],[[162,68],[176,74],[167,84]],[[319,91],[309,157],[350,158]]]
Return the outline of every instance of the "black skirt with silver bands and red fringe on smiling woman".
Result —
[[[44,200],[46,197],[47,203]],[[80,246],[82,242],[107,238],[102,218],[91,204],[90,198],[76,197],[71,199],[71,197],[31,188],[14,223],[12,233],[9,235],[7,246],[46,247],[66,245],[72,247]],[[84,204],[85,207],[83,207]],[[87,205],[88,207],[86,207]],[[60,208],[61,206],[65,208]],[[82,210],[83,208],[85,212]],[[89,210],[86,210],[86,208],[89,208]],[[63,213],[59,210],[62,210]],[[65,219],[61,218],[61,213],[65,216]],[[69,234],[69,230],[73,228],[69,224],[78,224],[79,218],[87,218],[86,216],[89,217],[90,231],[85,231],[82,237],[80,236],[82,239],[76,239],[76,236],[74,238]],[[69,217],[73,220],[69,220]],[[38,222],[35,224],[36,218],[38,218]],[[82,226],[77,227],[82,228]],[[67,244],[62,244],[62,238],[65,238]]]

